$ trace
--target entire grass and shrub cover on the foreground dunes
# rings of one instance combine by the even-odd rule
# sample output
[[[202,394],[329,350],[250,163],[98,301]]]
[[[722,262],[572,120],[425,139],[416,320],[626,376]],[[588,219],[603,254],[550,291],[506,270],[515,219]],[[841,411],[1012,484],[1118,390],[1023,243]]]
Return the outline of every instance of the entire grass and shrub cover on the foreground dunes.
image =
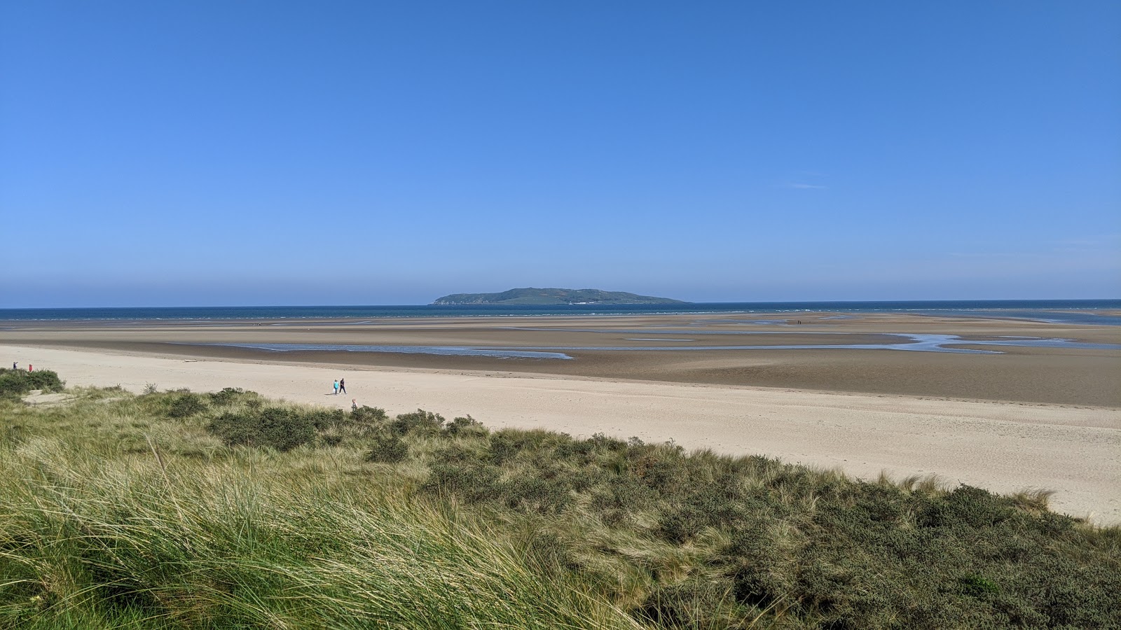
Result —
[[[0,398],[3,628],[1121,627],[1121,529],[1044,491],[66,391]]]

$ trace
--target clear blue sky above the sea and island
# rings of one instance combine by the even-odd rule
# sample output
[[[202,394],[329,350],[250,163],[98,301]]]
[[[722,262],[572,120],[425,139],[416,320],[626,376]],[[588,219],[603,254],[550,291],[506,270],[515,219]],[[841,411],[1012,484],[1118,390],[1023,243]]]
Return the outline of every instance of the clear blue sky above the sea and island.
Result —
[[[1121,297],[1121,2],[0,2],[0,307]]]

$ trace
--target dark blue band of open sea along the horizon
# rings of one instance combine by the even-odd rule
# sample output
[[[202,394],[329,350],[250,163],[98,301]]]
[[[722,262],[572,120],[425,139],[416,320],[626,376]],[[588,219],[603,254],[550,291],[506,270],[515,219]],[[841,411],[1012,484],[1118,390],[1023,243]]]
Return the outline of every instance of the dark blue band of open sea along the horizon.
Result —
[[[911,313],[993,317],[1063,324],[1121,325],[1121,299],[1009,299],[908,302],[713,302],[684,304],[373,305],[373,306],[167,306],[112,308],[0,308],[2,321],[228,321],[376,319],[386,317],[495,317],[546,315]]]

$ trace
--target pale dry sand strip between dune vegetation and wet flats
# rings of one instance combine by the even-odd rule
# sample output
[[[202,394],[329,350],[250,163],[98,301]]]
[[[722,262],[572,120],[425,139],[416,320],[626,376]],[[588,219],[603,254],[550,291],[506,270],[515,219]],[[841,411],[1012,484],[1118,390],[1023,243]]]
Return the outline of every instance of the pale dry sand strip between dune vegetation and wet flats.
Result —
[[[915,353],[917,354],[917,353]],[[861,476],[937,474],[998,492],[1055,490],[1055,509],[1121,522],[1121,409],[1013,401],[654,382],[493,370],[437,370],[117,350],[0,345],[0,359],[70,386],[140,391],[241,387],[271,398],[398,414],[470,414],[490,427],[605,433],[686,448],[762,454]],[[350,393],[332,396],[345,377]]]

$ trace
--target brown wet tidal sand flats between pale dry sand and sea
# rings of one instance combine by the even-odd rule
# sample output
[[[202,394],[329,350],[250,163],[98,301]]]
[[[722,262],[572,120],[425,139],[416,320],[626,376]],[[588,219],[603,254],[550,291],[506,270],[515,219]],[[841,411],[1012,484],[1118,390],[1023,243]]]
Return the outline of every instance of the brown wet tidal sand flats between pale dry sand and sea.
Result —
[[[385,369],[532,374],[791,388],[967,400],[1121,407],[1121,350],[971,345],[969,340],[1071,339],[1121,344],[1121,327],[896,314],[647,315],[354,321],[19,322],[0,343],[85,348],[183,358]],[[907,342],[900,334],[952,334],[956,354],[849,350]],[[228,345],[356,344],[544,349],[571,360],[304,350]],[[700,350],[815,344],[814,350]],[[565,350],[578,348],[582,350]],[[666,349],[666,350],[596,350]],[[696,349],[696,350],[694,350]]]

